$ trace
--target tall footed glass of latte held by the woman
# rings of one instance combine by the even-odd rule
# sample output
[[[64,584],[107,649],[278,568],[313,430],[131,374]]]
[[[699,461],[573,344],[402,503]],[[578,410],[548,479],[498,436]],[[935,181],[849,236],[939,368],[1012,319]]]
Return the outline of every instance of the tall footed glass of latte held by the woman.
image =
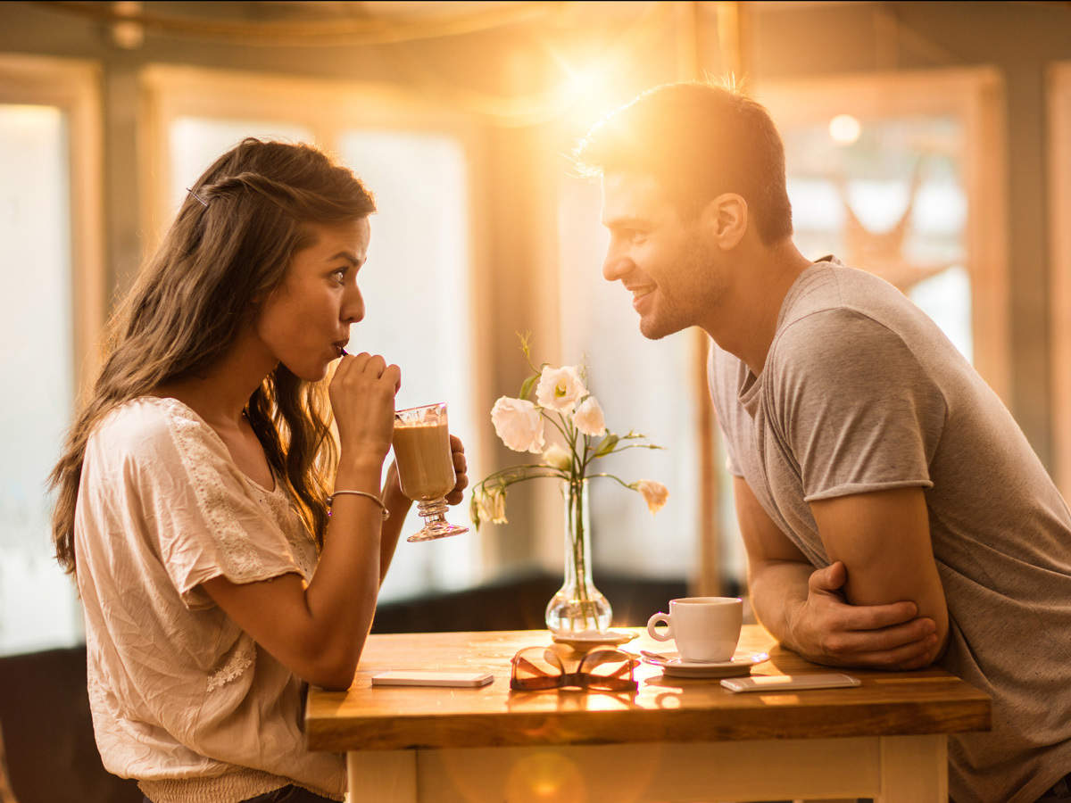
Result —
[[[417,502],[424,529],[407,541],[431,541],[468,532],[447,521],[447,500],[457,476],[450,450],[447,403],[410,407],[394,413],[394,459],[402,493]]]

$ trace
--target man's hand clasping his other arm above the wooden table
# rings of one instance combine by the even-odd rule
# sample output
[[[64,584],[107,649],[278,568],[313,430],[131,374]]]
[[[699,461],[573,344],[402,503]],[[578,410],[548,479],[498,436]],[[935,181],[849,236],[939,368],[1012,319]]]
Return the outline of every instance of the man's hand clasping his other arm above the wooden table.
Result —
[[[789,646],[832,666],[918,669],[932,661],[936,624],[914,602],[850,605],[841,589],[848,574],[840,561],[812,573],[806,599],[787,612]]]

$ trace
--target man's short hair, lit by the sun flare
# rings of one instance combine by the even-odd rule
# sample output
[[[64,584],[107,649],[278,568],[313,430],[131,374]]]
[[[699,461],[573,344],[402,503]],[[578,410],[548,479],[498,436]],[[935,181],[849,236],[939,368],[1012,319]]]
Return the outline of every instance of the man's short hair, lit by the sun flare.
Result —
[[[764,243],[793,233],[781,136],[767,110],[736,89],[704,81],[650,89],[597,123],[574,156],[587,175],[653,176],[684,218],[738,193]]]

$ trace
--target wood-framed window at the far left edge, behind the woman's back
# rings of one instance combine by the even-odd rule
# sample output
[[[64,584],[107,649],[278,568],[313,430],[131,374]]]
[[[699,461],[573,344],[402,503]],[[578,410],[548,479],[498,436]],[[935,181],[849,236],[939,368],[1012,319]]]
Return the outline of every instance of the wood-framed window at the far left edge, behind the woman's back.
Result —
[[[0,57],[0,654],[76,643],[74,584],[52,558],[46,478],[93,374],[101,329],[95,71]],[[72,142],[79,148],[73,149]]]

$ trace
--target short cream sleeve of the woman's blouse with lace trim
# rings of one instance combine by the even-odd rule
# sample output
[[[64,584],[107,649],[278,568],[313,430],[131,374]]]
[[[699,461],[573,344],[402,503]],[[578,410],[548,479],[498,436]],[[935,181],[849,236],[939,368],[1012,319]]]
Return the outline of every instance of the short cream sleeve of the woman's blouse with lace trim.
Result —
[[[295,547],[223,441],[205,424],[168,415],[142,433],[134,470],[148,537],[187,607],[211,605],[199,584],[305,575]],[[305,577],[305,579],[310,579]]]

